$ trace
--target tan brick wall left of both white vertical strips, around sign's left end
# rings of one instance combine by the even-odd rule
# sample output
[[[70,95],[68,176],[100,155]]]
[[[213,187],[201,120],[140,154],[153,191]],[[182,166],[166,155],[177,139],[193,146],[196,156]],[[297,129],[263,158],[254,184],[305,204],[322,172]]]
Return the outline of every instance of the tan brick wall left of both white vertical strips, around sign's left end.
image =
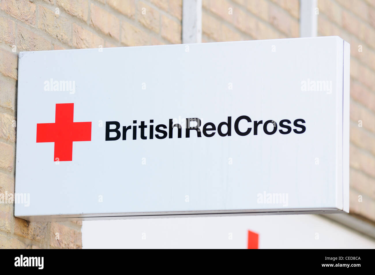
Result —
[[[182,0],[0,1],[0,193],[14,193],[20,51],[181,43]],[[0,248],[81,248],[82,222],[27,222],[0,203]],[[56,234],[58,233],[58,234]]]

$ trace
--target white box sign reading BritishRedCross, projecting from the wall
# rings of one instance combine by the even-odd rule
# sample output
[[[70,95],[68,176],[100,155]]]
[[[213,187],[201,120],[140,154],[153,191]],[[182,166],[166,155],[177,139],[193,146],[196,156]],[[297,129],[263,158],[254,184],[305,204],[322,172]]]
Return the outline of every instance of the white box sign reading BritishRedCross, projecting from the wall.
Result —
[[[348,212],[339,37],[22,52],[15,216]]]

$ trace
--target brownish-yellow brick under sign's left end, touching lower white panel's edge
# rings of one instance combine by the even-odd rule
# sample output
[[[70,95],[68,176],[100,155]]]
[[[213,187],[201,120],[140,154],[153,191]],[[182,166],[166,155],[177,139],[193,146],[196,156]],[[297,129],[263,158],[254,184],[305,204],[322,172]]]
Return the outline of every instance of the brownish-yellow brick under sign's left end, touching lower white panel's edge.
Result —
[[[55,248],[82,248],[82,235],[66,225],[51,222],[50,244]]]

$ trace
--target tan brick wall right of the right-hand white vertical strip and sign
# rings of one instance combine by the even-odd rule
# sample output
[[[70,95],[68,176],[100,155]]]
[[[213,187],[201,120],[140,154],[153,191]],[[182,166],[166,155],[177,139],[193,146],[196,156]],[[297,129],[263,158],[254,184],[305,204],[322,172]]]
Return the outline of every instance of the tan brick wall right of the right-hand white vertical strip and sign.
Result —
[[[375,221],[375,0],[318,0],[318,8],[318,35],[350,43],[350,211]]]

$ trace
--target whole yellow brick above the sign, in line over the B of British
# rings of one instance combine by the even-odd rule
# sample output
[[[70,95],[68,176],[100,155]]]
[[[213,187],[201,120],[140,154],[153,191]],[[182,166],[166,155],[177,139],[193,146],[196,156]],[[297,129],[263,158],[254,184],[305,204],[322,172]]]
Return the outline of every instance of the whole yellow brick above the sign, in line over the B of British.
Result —
[[[92,26],[101,30],[105,35],[120,39],[120,20],[117,17],[94,4],[90,6],[90,13]]]

